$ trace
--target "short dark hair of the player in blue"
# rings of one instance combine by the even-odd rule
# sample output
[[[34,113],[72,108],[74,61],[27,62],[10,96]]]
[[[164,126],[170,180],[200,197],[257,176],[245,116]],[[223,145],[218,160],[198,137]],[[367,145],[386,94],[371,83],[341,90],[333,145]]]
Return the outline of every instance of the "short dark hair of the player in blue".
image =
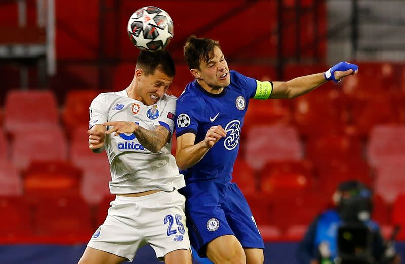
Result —
[[[184,59],[188,68],[201,70],[200,62],[208,63],[214,57],[215,47],[221,48],[219,41],[190,36],[184,46]]]

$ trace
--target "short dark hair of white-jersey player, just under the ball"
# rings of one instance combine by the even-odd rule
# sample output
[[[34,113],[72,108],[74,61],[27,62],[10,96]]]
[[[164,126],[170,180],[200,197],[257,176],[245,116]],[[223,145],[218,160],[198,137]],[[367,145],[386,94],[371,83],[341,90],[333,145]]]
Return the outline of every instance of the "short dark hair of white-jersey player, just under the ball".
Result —
[[[153,74],[156,69],[159,69],[169,77],[173,77],[176,74],[173,58],[166,50],[155,52],[142,50],[139,52],[136,68],[142,69],[146,76]]]

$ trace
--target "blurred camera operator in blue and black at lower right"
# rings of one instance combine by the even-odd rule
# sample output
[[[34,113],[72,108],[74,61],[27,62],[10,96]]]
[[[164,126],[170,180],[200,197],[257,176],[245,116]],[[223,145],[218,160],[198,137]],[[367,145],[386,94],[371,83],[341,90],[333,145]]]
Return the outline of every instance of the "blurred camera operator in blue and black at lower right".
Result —
[[[378,224],[370,219],[372,192],[364,184],[359,181],[342,182],[333,194],[333,202],[335,209],[321,213],[309,226],[297,249],[298,263],[400,263],[392,243],[388,249]],[[361,246],[355,244],[358,241],[362,241]],[[347,256],[345,250],[351,246],[351,260],[345,260],[342,255]]]

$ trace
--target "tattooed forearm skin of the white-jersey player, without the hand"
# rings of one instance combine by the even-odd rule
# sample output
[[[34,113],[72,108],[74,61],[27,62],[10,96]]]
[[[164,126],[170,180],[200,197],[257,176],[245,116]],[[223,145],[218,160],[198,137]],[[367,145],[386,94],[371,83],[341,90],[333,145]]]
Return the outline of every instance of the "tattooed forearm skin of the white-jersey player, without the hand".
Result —
[[[169,131],[163,126],[156,126],[154,131],[138,127],[134,134],[139,143],[154,153],[161,150],[170,136]]]

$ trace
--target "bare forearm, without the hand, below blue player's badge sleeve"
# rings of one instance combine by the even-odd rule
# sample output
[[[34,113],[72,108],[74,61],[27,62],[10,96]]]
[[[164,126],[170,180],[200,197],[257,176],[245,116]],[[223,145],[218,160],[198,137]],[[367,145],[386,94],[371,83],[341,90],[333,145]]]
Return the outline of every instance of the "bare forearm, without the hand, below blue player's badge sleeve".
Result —
[[[186,170],[195,165],[204,155],[210,150],[210,148],[204,143],[204,141],[198,144],[185,147],[176,154],[176,163],[180,170]]]

